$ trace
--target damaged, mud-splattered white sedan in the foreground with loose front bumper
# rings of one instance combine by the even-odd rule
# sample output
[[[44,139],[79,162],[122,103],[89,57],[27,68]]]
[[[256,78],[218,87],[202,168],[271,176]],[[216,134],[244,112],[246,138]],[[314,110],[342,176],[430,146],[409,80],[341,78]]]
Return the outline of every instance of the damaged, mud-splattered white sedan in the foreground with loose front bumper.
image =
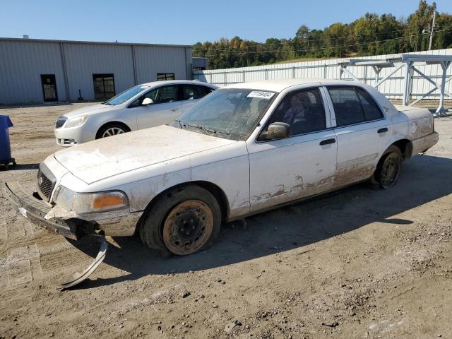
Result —
[[[427,109],[362,83],[238,83],[170,126],[50,155],[33,196],[17,182],[6,189],[21,214],[65,237],[138,233],[186,255],[210,246],[222,222],[366,180],[388,189],[403,160],[438,138]]]

